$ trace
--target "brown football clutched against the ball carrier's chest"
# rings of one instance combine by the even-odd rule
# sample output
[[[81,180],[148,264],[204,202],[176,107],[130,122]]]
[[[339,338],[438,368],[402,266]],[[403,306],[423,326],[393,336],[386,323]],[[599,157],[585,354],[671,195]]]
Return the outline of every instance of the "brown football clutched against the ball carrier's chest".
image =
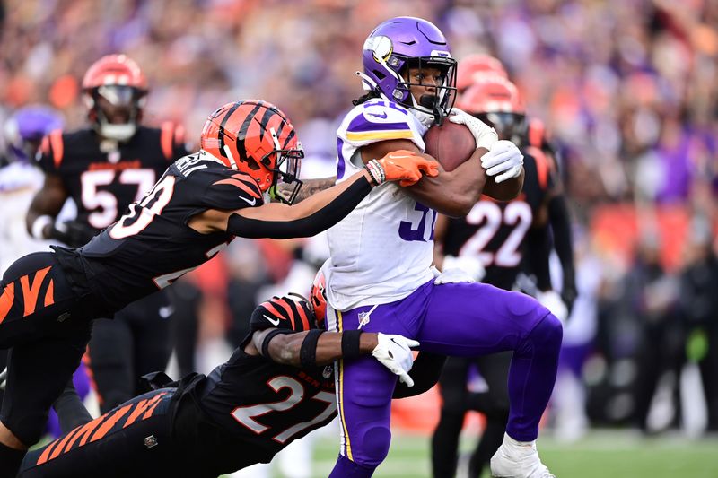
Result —
[[[433,156],[447,171],[467,161],[477,149],[474,135],[464,125],[446,120],[442,126],[432,126],[424,135],[425,153]]]

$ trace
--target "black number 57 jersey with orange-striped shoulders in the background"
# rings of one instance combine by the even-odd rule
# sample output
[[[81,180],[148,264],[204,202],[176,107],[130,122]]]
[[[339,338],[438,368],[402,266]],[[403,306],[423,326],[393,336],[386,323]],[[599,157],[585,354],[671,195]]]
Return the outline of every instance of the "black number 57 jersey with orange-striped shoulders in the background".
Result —
[[[188,154],[183,141],[171,123],[138,126],[127,143],[103,143],[91,128],[57,130],[43,141],[39,165],[62,179],[77,204],[77,221],[99,231],[142,198],[172,161]]]

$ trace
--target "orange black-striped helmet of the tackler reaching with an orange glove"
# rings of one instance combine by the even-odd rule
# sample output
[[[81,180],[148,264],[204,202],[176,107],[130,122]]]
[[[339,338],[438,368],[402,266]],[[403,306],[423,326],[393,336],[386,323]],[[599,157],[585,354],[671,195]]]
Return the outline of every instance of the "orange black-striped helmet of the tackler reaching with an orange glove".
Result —
[[[292,204],[302,187],[302,143],[289,118],[263,100],[239,100],[216,109],[206,120],[200,148],[232,169],[249,174],[262,191]],[[276,195],[279,182],[288,192]]]

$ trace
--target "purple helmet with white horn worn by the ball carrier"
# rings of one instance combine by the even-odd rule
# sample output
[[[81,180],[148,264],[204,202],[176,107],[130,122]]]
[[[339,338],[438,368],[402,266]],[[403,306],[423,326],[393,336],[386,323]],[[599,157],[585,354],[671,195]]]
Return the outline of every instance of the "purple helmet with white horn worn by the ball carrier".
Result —
[[[397,17],[376,27],[363,46],[363,83],[367,91],[406,108],[414,109],[440,123],[451,111],[456,97],[456,60],[449,44],[432,22],[416,17]],[[409,88],[408,67],[433,67],[442,72],[437,95],[417,102]],[[373,84],[372,84],[373,83]]]

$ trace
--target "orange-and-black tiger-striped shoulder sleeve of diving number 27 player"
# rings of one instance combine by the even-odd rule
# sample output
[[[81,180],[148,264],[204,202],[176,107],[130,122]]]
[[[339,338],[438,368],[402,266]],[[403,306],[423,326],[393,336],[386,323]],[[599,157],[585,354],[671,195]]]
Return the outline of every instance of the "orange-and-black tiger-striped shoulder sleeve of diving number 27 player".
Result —
[[[262,302],[252,312],[252,331],[270,327],[302,332],[317,328],[317,318],[309,301],[299,294],[289,293],[284,297],[274,296]]]

